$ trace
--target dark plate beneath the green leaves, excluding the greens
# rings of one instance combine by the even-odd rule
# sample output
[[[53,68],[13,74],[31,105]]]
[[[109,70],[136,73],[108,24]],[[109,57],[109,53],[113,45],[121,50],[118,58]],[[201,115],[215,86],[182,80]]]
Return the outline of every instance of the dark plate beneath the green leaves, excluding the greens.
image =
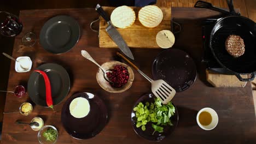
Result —
[[[154,129],[152,128],[152,123],[149,122],[146,124],[146,130],[143,131],[141,129],[141,127],[137,128],[136,127],[136,116],[135,116],[135,111],[133,111],[133,108],[136,107],[136,105],[140,102],[142,102],[143,104],[145,104],[147,101],[149,103],[153,103],[155,99],[155,96],[153,94],[144,94],[141,98],[139,98],[135,105],[133,105],[132,107],[132,113],[131,113],[131,121],[132,121],[132,127],[135,131],[135,133],[141,137],[143,137],[144,139],[147,140],[151,140],[151,141],[160,141],[162,139],[164,139],[166,136],[170,135],[172,133],[172,131],[177,127],[178,125],[178,110],[177,107],[173,104],[173,106],[175,107],[175,113],[174,116],[171,117],[171,122],[172,122],[172,126],[171,125],[166,125],[164,127],[164,132],[159,133],[158,131],[155,131],[154,133]],[[154,135],[152,135],[154,133]]]

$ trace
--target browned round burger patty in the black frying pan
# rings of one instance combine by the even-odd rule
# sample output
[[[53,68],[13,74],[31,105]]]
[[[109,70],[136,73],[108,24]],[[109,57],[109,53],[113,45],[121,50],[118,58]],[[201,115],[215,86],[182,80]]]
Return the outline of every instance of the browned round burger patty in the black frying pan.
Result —
[[[240,57],[245,53],[245,43],[239,35],[229,35],[225,41],[226,51],[233,57]]]

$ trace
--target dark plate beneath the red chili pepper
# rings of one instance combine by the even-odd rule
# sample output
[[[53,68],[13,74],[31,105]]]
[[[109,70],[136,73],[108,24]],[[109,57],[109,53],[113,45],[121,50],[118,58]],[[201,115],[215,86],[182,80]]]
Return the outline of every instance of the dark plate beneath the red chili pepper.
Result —
[[[51,83],[53,105],[59,104],[67,96],[70,88],[70,80],[67,71],[61,65],[54,63],[42,64],[37,69],[44,71],[48,75]],[[28,80],[27,90],[28,95],[35,104],[47,106],[45,83],[42,75],[33,72]]]

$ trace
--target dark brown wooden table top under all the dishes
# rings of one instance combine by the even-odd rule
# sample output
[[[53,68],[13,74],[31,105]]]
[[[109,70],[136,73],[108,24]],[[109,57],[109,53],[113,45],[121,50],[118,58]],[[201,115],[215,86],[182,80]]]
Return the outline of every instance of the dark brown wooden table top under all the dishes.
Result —
[[[82,36],[74,48],[62,55],[46,52],[39,42],[34,48],[21,48],[21,38],[26,32],[33,31],[39,35],[44,22],[50,17],[67,14],[78,20],[82,28]],[[214,88],[206,82],[205,67],[201,64],[203,54],[201,38],[201,20],[217,15],[210,10],[194,8],[172,8],[174,21],[181,23],[182,32],[176,34],[175,48],[189,53],[197,65],[197,79],[187,91],[177,93],[173,103],[179,112],[179,124],[176,130],[159,143],[255,143],[256,121],[252,97],[251,83],[245,88]],[[90,29],[90,22],[98,14],[94,9],[52,9],[24,10],[20,18],[24,29],[15,39],[13,56],[30,56],[33,69],[42,63],[61,64],[71,77],[71,89],[68,96],[77,92],[91,92],[99,95],[106,103],[109,121],[100,134],[89,140],[76,140],[66,133],[61,124],[61,108],[65,100],[55,106],[55,111],[34,105],[29,116],[19,113],[4,114],[2,143],[37,143],[37,131],[26,125],[15,124],[16,120],[30,122],[33,117],[44,119],[45,125],[54,125],[59,130],[57,143],[154,143],[139,137],[131,126],[131,109],[135,101],[144,93],[150,92],[150,83],[136,71],[132,87],[123,93],[113,94],[104,91],[96,81],[97,67],[80,56],[80,50],[87,50],[99,63],[120,60],[115,56],[118,49],[100,49],[97,33]],[[132,49],[136,61],[134,63],[144,73],[151,75],[154,57],[163,49]],[[8,90],[16,85],[27,85],[30,73],[16,73],[14,62],[11,62]],[[7,94],[4,111],[18,111],[21,103],[31,101],[30,98],[16,98]],[[219,123],[211,131],[205,131],[196,124],[196,113],[203,107],[212,107],[217,111]]]

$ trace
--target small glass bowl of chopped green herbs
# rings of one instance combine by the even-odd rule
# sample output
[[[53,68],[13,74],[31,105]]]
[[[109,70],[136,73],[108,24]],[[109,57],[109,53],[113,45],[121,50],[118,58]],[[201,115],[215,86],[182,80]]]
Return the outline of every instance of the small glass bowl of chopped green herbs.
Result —
[[[41,144],[53,144],[56,143],[59,134],[58,130],[52,125],[45,125],[38,132],[38,141]]]

